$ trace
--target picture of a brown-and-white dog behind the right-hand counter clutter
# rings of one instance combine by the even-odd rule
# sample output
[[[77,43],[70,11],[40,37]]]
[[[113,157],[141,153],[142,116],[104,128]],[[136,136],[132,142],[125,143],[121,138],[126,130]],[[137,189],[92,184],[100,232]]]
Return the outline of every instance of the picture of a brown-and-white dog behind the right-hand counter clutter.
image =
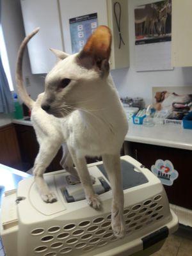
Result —
[[[182,120],[192,111],[192,86],[152,88],[153,106],[169,113],[168,119]]]

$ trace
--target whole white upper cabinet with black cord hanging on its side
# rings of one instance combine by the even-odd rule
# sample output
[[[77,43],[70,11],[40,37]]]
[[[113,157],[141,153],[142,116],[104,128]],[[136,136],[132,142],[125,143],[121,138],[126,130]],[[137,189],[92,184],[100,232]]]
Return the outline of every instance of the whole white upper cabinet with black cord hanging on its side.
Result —
[[[125,45],[118,49],[119,33],[113,5],[115,0],[20,0],[26,34],[34,28],[40,31],[29,42],[29,60],[33,74],[47,73],[56,59],[49,48],[72,53],[69,19],[97,13],[98,25],[107,25],[113,33],[111,68],[129,66],[128,3],[121,4],[121,31]],[[117,10],[117,15],[119,10]],[[84,29],[84,28],[83,28]]]

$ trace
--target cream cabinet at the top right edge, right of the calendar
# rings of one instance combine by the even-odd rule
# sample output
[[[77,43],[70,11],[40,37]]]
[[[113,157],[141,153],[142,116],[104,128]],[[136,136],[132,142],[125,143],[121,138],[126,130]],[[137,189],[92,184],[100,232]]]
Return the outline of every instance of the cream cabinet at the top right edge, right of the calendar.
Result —
[[[192,1],[172,0],[172,66],[192,66]]]

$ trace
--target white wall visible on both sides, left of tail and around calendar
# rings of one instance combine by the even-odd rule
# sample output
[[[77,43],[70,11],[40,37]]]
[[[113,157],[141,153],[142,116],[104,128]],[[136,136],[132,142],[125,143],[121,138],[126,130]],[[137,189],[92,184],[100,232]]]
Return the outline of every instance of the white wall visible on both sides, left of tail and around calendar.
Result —
[[[154,2],[154,0],[129,0],[130,67],[112,70],[111,72],[120,96],[143,97],[147,104],[152,100],[152,86],[184,86],[192,84],[192,67],[175,68],[170,71],[136,72],[134,68],[134,6],[150,3],[150,1]],[[15,86],[17,51],[25,35],[20,2],[19,0],[2,0],[2,8],[3,32],[10,60],[13,86]],[[45,75],[31,74],[28,55],[24,60],[24,76],[29,76],[31,86],[27,90],[31,97],[36,99],[36,95],[44,91],[43,76]]]

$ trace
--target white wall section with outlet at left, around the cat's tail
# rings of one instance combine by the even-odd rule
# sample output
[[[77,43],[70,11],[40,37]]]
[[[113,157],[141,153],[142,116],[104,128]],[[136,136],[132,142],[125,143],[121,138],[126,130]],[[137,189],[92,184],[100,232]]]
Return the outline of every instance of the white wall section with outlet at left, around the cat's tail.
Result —
[[[22,21],[22,13],[20,9],[19,0],[2,0],[1,7],[1,22],[4,34],[4,40],[6,44],[6,50],[8,52],[8,59],[10,62],[10,70],[13,80],[13,86],[16,89],[15,84],[15,65],[17,60],[17,52],[20,42],[25,36],[24,26]],[[36,95],[44,91],[44,75],[32,75],[29,65],[28,54],[26,54],[23,63],[24,79],[29,77],[31,86],[27,88],[28,93],[33,99],[36,99]]]

